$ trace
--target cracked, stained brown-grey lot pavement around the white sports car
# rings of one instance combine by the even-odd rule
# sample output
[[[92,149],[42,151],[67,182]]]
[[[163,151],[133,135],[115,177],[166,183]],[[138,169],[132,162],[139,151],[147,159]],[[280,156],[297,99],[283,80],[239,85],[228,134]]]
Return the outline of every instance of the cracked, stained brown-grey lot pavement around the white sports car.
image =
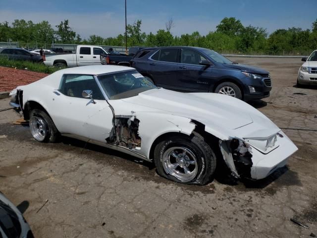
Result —
[[[317,89],[295,86],[300,59],[232,60],[270,71],[271,96],[252,105],[299,148],[267,179],[181,185],[119,152],[67,138],[36,142],[28,126],[12,124],[19,116],[10,110],[0,112],[0,191],[16,205],[27,201],[24,215],[38,238],[317,235]],[[0,100],[0,109],[7,103]]]

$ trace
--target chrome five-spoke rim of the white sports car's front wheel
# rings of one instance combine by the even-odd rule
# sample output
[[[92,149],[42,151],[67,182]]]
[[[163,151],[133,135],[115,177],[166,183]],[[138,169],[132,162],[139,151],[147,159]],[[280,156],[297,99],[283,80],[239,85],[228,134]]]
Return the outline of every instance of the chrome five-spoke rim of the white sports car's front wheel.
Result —
[[[176,179],[189,182],[197,175],[196,156],[185,147],[171,147],[163,154],[163,169]]]

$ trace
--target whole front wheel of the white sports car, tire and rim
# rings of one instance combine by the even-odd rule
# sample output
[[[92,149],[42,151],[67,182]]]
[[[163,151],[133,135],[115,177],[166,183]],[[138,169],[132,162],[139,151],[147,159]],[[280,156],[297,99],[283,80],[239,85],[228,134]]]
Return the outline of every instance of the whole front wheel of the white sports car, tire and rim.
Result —
[[[154,161],[160,176],[189,184],[207,184],[216,168],[216,157],[204,138],[171,136],[159,142]]]

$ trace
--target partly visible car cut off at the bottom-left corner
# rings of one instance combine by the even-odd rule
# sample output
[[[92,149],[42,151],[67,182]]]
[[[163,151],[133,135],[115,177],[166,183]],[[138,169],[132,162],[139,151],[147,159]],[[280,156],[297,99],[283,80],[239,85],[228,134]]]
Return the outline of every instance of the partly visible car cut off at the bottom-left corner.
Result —
[[[22,212],[0,192],[0,238],[34,238]]]

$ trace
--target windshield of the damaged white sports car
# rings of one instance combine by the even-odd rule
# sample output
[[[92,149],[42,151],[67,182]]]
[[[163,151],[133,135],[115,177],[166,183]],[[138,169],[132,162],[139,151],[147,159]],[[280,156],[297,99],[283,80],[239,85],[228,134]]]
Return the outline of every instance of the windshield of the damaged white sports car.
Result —
[[[104,74],[98,79],[109,99],[122,99],[138,95],[157,87],[136,70]]]

